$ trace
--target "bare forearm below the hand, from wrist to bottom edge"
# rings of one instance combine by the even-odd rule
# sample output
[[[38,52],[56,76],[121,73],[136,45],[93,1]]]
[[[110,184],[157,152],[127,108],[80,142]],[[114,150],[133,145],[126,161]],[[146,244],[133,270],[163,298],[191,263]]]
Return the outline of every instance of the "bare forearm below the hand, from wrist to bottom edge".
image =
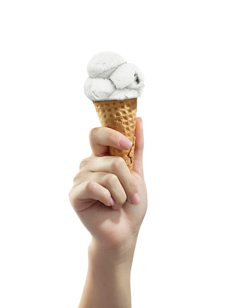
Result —
[[[88,250],[88,271],[79,308],[130,308],[130,274],[135,245],[126,252]]]

